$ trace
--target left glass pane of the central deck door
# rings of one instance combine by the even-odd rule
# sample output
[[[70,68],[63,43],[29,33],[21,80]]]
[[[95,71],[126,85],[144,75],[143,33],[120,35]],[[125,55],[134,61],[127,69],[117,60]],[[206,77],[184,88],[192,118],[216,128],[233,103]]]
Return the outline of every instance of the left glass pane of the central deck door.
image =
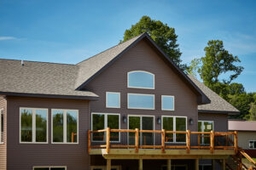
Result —
[[[141,117],[129,116],[129,129],[140,129]],[[135,133],[129,133],[129,144],[135,144]]]

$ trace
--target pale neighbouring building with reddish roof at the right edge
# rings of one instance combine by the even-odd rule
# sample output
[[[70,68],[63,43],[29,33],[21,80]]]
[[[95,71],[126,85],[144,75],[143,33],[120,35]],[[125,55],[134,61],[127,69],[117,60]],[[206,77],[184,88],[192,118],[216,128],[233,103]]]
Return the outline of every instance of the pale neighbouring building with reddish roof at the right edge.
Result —
[[[229,120],[229,130],[237,131],[238,145],[256,157],[256,121]]]

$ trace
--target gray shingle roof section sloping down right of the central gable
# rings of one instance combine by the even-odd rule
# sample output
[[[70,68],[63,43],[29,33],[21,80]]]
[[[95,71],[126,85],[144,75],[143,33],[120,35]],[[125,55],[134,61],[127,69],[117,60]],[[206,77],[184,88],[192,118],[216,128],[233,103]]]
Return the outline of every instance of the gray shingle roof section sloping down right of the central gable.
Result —
[[[211,99],[211,103],[207,105],[198,105],[198,111],[201,112],[219,112],[237,114],[239,111],[229,102],[221,98],[218,94],[207,88],[202,82],[199,82],[195,77],[188,75],[195,85]]]

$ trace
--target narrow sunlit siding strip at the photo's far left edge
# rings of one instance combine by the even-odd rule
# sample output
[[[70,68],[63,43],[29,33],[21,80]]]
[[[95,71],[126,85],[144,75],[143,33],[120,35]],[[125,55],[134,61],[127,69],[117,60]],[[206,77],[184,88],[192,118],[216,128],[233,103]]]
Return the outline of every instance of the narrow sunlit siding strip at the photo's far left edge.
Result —
[[[5,170],[6,169],[6,107],[7,102],[6,99],[3,97],[0,97],[0,110],[3,109],[3,144],[0,144],[0,169]]]

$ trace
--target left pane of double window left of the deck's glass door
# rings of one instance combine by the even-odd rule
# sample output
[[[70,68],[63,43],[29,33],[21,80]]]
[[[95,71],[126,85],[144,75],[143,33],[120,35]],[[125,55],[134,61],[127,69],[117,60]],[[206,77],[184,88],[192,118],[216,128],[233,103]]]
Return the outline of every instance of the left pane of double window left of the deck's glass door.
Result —
[[[92,115],[92,130],[102,130],[104,129],[104,115],[93,114]],[[104,133],[92,133],[92,139],[94,141],[103,141]]]

